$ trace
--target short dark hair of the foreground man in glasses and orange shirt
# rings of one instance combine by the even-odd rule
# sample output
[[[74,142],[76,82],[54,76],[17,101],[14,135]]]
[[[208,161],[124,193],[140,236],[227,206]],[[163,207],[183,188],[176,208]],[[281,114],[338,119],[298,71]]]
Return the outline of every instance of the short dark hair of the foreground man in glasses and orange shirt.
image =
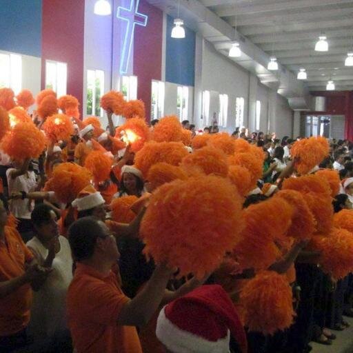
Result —
[[[76,261],[90,259],[97,239],[105,235],[99,221],[92,217],[84,217],[72,223],[68,234],[72,256]]]

